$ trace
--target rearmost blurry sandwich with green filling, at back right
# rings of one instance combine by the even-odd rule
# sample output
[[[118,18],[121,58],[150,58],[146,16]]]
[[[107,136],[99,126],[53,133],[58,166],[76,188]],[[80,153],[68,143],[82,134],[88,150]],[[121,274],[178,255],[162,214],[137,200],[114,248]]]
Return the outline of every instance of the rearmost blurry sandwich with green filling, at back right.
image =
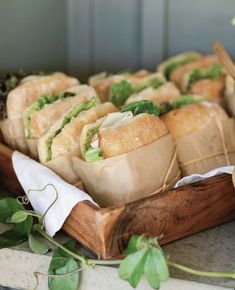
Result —
[[[188,51],[180,53],[176,56],[170,57],[158,66],[158,71],[162,73],[167,80],[172,80],[172,73],[177,68],[194,62],[202,57],[202,55],[195,51]]]

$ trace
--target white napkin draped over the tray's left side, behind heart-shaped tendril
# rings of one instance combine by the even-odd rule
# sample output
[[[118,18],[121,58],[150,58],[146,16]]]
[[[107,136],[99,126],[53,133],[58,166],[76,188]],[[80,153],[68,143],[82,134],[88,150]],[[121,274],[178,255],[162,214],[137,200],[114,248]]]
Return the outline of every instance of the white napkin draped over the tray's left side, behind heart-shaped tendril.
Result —
[[[66,218],[78,202],[88,200],[95,204],[87,193],[68,184],[49,168],[18,151],[14,151],[12,155],[12,164],[25,193],[27,194],[30,190],[28,198],[32,207],[41,215],[56,198],[56,191],[49,184],[53,184],[56,188],[58,199],[45,215],[45,229],[51,237],[62,228]],[[38,191],[45,186],[47,187],[43,191]]]

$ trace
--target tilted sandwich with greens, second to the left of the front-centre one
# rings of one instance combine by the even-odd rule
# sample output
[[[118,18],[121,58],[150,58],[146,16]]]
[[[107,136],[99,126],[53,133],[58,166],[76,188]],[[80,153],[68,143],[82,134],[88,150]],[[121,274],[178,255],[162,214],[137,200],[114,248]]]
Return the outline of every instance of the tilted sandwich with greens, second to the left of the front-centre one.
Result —
[[[24,111],[24,127],[26,141],[33,157],[38,157],[38,138],[62,114],[72,107],[96,97],[93,88],[79,85],[69,88],[59,94],[41,96]]]

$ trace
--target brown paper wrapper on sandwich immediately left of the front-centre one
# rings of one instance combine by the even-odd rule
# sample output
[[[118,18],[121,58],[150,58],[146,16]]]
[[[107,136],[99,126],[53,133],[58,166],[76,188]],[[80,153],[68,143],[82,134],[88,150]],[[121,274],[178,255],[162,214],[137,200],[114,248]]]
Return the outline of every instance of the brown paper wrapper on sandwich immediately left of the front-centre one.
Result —
[[[43,165],[53,170],[57,175],[70,184],[77,184],[80,178],[73,169],[72,157],[79,156],[79,147],[73,149],[68,154],[62,155],[59,158],[50,160]]]

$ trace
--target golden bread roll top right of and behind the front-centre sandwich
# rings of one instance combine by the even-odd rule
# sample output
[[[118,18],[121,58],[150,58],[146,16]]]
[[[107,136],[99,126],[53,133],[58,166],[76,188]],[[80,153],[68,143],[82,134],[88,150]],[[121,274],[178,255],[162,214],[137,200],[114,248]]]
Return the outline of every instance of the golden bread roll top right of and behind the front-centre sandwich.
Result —
[[[212,120],[228,118],[219,105],[209,102],[186,105],[161,116],[174,140],[201,129]]]

